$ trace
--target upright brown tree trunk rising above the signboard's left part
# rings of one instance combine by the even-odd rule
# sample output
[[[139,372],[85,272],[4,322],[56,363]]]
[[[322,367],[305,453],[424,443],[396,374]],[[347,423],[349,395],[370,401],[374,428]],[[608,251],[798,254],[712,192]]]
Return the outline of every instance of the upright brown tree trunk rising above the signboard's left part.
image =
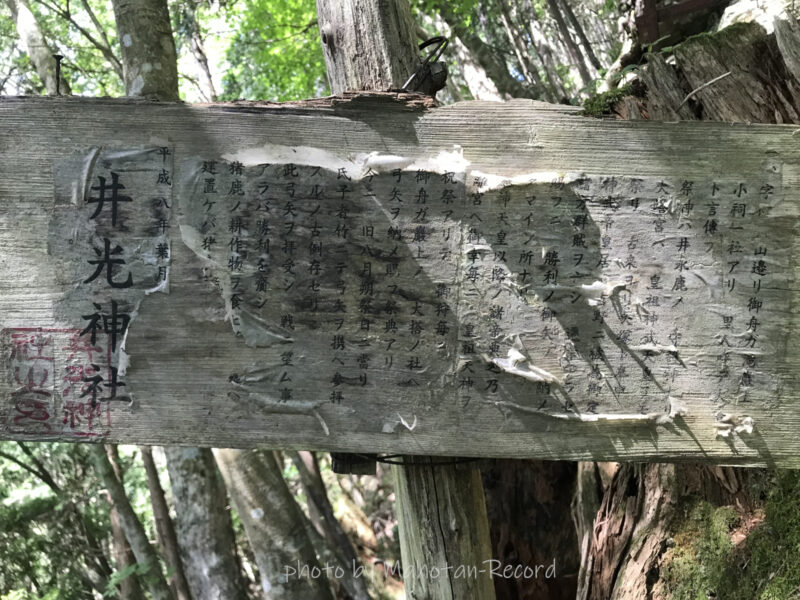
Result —
[[[113,0],[128,96],[178,100],[178,62],[166,0]]]

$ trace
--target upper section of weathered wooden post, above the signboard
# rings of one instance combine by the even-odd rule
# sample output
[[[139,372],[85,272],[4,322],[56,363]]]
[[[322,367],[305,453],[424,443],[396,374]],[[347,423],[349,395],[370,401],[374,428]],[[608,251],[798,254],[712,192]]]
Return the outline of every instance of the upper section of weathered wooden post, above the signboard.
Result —
[[[317,0],[328,81],[334,94],[398,89],[419,66],[407,1]]]

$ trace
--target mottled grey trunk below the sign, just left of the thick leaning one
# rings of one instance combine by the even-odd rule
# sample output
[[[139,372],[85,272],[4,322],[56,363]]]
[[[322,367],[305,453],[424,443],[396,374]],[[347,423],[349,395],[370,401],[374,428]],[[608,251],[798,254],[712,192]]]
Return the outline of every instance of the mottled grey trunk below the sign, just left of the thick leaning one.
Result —
[[[207,448],[165,447],[176,533],[195,600],[247,598],[236,562],[227,494]]]

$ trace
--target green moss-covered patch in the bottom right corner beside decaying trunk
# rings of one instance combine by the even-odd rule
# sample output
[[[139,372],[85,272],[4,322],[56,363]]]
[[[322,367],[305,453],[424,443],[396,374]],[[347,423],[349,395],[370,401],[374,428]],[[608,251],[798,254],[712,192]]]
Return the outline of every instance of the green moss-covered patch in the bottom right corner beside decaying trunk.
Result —
[[[800,472],[777,472],[769,488],[763,522],[738,546],[730,539],[740,525],[733,509],[705,502],[690,509],[661,568],[666,597],[800,599]]]

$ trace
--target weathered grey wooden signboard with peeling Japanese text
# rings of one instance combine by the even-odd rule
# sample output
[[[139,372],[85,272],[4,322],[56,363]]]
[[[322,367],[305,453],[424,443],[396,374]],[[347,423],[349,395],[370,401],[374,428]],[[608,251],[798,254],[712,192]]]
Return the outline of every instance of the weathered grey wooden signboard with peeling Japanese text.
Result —
[[[797,463],[800,135],[0,100],[0,437]]]

